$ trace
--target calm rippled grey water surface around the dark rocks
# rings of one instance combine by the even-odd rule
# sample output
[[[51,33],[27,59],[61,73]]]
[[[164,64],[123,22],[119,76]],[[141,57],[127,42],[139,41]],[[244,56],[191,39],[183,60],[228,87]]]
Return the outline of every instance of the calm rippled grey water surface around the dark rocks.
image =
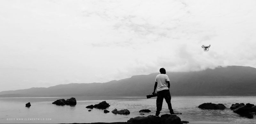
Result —
[[[146,97],[146,96],[145,96]],[[37,98],[0,98],[0,123],[92,123],[92,122],[126,122],[137,116],[155,115],[156,97],[75,97],[75,106],[57,106],[52,104],[57,99],[70,97],[37,97]],[[87,105],[95,105],[107,101],[110,107],[109,113],[101,109],[85,108]],[[31,106],[25,107],[30,102]],[[256,96],[196,96],[196,97],[172,97],[172,108],[181,120],[190,123],[256,123],[256,115],[243,116],[234,113],[229,107],[235,103],[256,104]],[[203,110],[198,105],[212,102],[222,103],[225,110]],[[130,115],[115,115],[114,109],[128,109]],[[149,109],[151,112],[140,115],[141,109]],[[169,113],[167,104],[163,102],[160,113]],[[18,120],[17,120],[18,119]],[[20,120],[19,120],[20,119]],[[23,119],[23,120],[22,120]],[[37,120],[36,120],[37,119]]]

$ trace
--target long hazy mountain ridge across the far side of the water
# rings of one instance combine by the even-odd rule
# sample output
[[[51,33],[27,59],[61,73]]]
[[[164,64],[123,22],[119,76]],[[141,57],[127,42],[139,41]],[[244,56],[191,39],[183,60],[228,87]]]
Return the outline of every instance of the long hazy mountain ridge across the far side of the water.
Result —
[[[159,73],[106,83],[70,83],[49,88],[2,91],[0,97],[139,96],[151,94]],[[167,72],[172,95],[256,95],[256,68],[218,67],[198,72]]]

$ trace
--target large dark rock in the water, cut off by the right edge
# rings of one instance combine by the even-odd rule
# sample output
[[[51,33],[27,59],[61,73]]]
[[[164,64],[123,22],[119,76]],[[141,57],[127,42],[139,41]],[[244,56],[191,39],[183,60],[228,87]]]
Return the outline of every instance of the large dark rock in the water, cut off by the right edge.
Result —
[[[236,112],[236,113],[256,112],[256,106],[253,104],[247,103],[244,106],[239,106],[238,108],[234,109],[233,112]]]

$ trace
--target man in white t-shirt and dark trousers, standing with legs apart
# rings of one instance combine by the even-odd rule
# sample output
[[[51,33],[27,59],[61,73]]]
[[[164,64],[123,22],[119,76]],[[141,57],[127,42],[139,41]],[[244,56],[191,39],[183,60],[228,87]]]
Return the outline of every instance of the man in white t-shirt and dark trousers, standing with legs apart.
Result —
[[[172,104],[171,104],[171,94],[170,94],[170,79],[168,75],[166,75],[166,71],[164,68],[160,68],[160,73],[156,76],[156,83],[154,86],[155,93],[157,88],[157,98],[156,98],[156,116],[159,116],[160,111],[162,110],[163,100],[165,99],[168,109],[170,110],[171,114],[173,113]]]

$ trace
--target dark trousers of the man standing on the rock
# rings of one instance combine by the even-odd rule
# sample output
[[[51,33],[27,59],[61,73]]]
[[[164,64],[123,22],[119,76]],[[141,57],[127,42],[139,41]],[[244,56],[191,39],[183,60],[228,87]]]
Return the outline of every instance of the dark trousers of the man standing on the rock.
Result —
[[[164,89],[161,91],[157,91],[157,93],[158,93],[158,96],[156,98],[156,116],[158,116],[160,114],[160,111],[162,110],[164,99],[168,105],[168,109],[170,110],[170,113],[173,114],[170,90]]]

